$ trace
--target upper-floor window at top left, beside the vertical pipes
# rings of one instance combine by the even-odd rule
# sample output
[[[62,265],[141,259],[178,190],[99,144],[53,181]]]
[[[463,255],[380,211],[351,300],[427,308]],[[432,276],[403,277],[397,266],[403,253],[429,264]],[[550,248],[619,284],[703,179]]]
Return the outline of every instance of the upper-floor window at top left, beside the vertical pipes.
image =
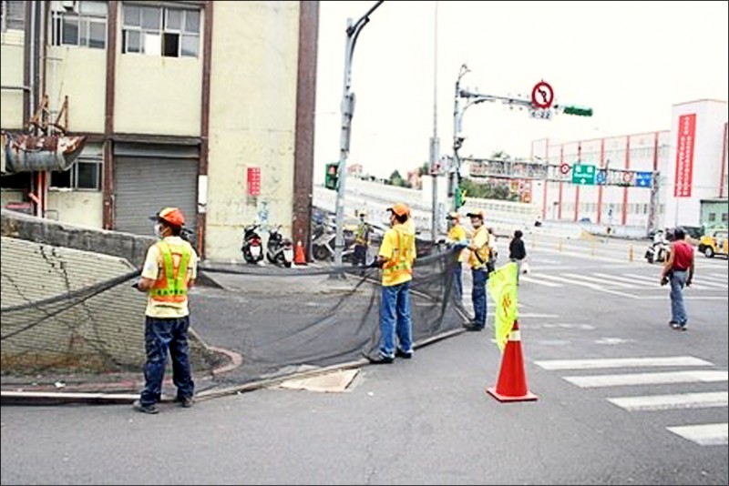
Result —
[[[106,2],[56,2],[51,13],[51,44],[103,49],[107,46],[107,15]]]

